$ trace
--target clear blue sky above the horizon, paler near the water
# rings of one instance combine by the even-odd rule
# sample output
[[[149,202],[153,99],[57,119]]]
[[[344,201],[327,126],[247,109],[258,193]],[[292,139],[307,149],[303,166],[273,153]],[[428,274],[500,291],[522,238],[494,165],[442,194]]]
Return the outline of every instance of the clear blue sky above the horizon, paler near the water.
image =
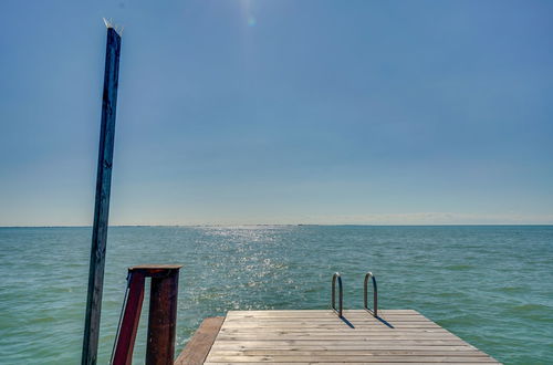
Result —
[[[553,223],[551,1],[2,1],[0,226]]]

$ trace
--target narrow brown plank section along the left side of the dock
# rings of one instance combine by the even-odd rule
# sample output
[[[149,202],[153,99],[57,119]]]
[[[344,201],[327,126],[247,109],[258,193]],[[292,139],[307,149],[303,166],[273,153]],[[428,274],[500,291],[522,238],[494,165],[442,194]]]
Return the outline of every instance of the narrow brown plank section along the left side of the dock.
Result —
[[[204,364],[225,321],[223,316],[207,317],[175,361],[175,365]]]

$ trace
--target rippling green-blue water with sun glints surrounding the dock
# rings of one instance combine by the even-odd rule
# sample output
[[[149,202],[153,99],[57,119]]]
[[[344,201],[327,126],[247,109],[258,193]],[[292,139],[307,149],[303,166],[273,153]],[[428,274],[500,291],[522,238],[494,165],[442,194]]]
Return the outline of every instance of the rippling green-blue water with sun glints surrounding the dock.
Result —
[[[80,362],[90,228],[0,228],[0,363]],[[182,263],[177,348],[232,309],[325,309],[342,272],[362,307],[415,309],[505,364],[553,364],[553,227],[114,227],[101,364],[113,346],[126,268]],[[136,344],[143,363],[145,324]]]

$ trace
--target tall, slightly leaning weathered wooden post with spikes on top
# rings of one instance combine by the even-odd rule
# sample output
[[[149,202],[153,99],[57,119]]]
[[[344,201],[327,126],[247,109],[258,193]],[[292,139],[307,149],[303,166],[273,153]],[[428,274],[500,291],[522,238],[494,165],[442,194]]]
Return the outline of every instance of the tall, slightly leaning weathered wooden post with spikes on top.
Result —
[[[97,359],[100,312],[102,309],[107,222],[109,216],[109,192],[112,189],[115,111],[117,105],[117,83],[119,75],[121,36],[107,21],[105,21],[105,23],[107,27],[107,45],[105,54],[104,93],[102,96],[102,127],[100,132],[88,294],[86,299],[83,354],[81,361],[83,365],[96,364]]]

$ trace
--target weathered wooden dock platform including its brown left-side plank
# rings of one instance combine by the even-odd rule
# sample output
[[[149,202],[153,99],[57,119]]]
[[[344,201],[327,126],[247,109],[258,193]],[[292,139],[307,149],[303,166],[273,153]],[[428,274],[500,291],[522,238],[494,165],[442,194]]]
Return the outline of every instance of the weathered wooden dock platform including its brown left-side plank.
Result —
[[[206,319],[175,364],[499,364],[413,310],[230,311]]]

